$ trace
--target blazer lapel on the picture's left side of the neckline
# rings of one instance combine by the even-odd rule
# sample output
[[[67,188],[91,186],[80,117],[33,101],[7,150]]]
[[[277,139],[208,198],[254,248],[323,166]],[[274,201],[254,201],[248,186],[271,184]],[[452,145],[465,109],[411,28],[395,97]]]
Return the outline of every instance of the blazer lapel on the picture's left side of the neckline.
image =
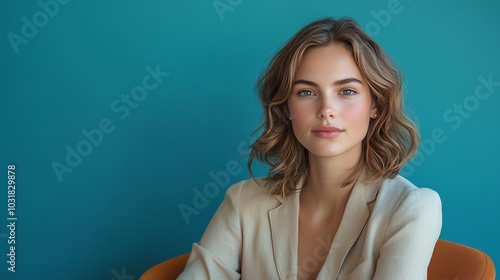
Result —
[[[281,205],[269,211],[274,261],[279,279],[295,279],[299,219],[298,192],[286,197],[275,195]]]

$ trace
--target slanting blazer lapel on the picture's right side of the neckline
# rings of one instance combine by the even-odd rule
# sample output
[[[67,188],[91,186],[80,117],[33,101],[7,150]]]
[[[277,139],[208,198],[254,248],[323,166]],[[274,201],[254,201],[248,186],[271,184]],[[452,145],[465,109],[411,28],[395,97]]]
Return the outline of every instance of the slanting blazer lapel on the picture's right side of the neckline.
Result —
[[[318,279],[337,279],[347,253],[370,217],[368,203],[375,199],[378,189],[379,186],[366,185],[362,180],[356,183]]]

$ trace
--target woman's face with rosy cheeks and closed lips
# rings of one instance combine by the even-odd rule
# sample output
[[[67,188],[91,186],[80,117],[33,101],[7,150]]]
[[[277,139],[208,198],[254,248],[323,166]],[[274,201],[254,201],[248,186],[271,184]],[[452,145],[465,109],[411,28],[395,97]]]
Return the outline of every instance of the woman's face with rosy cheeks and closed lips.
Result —
[[[309,156],[358,160],[376,109],[349,50],[339,44],[307,50],[293,83],[288,110]]]

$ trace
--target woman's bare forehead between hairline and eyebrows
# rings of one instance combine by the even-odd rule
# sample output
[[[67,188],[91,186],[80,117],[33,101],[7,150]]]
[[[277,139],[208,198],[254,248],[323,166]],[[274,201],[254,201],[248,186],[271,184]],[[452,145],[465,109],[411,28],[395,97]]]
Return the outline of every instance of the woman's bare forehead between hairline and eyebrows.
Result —
[[[302,56],[295,76],[295,79],[312,81],[363,78],[352,53],[341,44],[309,48]]]

